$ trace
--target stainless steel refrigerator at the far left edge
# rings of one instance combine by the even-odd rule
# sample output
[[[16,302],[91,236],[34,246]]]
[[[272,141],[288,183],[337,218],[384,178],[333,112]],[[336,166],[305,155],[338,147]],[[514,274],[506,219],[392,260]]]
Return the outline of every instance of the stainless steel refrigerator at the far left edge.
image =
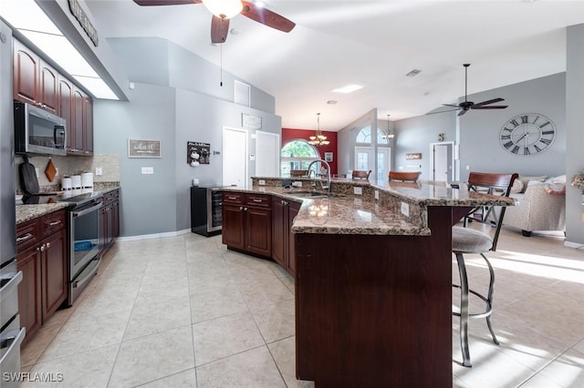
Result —
[[[0,385],[20,386],[20,344],[25,329],[18,315],[16,268],[15,136],[12,99],[12,31],[0,19]]]

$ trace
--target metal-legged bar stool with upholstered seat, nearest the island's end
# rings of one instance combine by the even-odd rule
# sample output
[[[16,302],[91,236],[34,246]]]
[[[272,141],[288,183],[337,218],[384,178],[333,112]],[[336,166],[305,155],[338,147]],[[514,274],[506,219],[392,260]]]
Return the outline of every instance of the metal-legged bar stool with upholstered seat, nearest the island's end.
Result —
[[[471,172],[468,178],[468,189],[471,191],[486,192],[488,194],[508,197],[513,181],[517,177],[517,174]],[[489,225],[491,233],[466,228],[466,222],[464,222],[464,227],[453,227],[453,252],[456,256],[456,263],[460,274],[460,285],[453,285],[460,289],[460,311],[453,311],[453,315],[460,317],[460,342],[463,352],[463,365],[469,367],[472,366],[470,351],[468,348],[468,320],[470,318],[485,318],[489,332],[491,332],[491,336],[493,337],[493,342],[497,345],[499,344],[491,323],[491,314],[493,313],[493,294],[495,291],[495,271],[493,271],[493,266],[486,258],[485,253],[489,250],[496,250],[496,243],[499,238],[499,231],[503,225],[503,217],[505,216],[506,207],[501,207],[498,215],[495,214],[492,207],[489,209],[493,211],[494,217],[489,218],[488,220],[483,220],[482,222]],[[475,210],[476,209],[473,209],[471,212],[475,212]],[[464,264],[464,254],[480,254],[485,260],[486,266],[489,270],[489,287],[486,296],[469,289],[466,265]],[[485,302],[485,311],[473,314],[469,313],[469,292]]]

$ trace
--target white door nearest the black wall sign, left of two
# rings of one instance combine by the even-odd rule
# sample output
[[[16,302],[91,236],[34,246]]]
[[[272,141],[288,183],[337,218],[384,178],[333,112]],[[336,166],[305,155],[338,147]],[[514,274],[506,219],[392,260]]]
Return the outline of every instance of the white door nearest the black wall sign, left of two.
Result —
[[[223,185],[246,189],[247,184],[247,131],[223,128]]]

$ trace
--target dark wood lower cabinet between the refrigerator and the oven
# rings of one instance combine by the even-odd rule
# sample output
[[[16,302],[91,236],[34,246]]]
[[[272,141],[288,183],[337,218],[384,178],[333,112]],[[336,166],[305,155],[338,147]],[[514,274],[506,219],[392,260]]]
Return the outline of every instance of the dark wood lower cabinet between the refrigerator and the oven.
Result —
[[[18,311],[28,342],[67,299],[65,210],[16,227],[16,265],[23,272]]]

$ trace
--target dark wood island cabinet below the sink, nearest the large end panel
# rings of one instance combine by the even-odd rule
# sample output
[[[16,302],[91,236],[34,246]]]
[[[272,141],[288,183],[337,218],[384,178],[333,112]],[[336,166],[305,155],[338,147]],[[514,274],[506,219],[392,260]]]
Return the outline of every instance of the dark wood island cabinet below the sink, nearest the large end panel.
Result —
[[[272,198],[272,259],[292,276],[296,273],[296,260],[291,229],[300,206],[293,200]]]

